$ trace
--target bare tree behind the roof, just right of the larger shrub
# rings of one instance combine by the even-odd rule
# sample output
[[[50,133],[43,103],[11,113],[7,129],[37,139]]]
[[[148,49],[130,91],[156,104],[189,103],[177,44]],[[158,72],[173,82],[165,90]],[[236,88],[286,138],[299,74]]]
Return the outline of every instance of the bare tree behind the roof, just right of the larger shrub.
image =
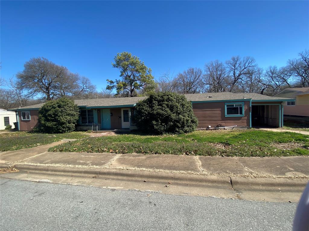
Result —
[[[176,78],[178,91],[182,94],[194,94],[201,91],[203,71],[201,68],[189,67]]]

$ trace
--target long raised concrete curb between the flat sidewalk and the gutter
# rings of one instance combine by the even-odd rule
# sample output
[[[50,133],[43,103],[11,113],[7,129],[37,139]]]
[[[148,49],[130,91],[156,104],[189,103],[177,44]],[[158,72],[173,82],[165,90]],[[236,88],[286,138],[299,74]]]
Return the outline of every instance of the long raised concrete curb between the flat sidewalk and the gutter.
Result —
[[[2,165],[1,165],[2,166]],[[160,182],[173,184],[211,187],[211,188],[231,188],[236,192],[249,191],[269,191],[269,192],[292,192],[302,193],[308,180],[304,179],[284,179],[284,178],[245,178],[228,177],[214,175],[192,175],[172,172],[151,172],[142,170],[108,169],[108,168],[77,168],[63,166],[38,166],[28,164],[18,164],[15,168],[20,172],[36,174],[52,174],[56,176],[70,177],[93,177],[108,178],[113,180],[127,180],[141,182]]]

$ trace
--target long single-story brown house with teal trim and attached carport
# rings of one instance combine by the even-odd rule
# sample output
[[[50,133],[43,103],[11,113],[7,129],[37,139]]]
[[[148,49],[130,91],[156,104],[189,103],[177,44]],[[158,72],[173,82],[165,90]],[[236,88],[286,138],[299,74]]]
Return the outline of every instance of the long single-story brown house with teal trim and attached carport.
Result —
[[[295,99],[270,97],[256,93],[203,93],[187,94],[194,114],[198,119],[198,129],[216,126],[283,126],[283,105]],[[75,103],[80,108],[78,130],[91,130],[92,125],[99,129],[135,129],[131,119],[136,103],[146,97],[80,99]],[[38,110],[43,105],[11,109],[17,113],[18,129],[31,131],[38,124]]]

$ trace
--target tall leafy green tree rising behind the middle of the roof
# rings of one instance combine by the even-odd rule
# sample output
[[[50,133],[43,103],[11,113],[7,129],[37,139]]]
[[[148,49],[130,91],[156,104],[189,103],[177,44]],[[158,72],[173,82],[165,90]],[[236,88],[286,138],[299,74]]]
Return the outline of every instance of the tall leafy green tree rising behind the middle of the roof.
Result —
[[[118,53],[112,66],[120,70],[121,79],[107,80],[107,90],[116,89],[117,94],[124,97],[147,95],[155,90],[151,69],[146,67],[138,57],[129,52]]]

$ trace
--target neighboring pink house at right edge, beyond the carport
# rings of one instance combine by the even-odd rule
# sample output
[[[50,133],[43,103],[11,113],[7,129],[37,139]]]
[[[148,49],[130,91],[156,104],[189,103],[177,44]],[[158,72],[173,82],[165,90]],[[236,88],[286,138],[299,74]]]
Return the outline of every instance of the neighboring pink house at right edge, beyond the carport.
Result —
[[[309,87],[286,88],[275,96],[295,99],[295,102],[285,102],[284,115],[309,117]]]

